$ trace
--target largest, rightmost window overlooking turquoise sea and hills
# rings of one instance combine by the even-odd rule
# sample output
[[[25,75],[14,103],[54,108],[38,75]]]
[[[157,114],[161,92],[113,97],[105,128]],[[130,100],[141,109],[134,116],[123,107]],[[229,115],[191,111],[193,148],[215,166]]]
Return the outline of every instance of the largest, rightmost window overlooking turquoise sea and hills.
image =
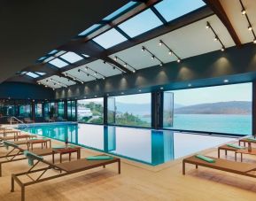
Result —
[[[174,118],[165,128],[252,135],[252,83],[169,92]]]

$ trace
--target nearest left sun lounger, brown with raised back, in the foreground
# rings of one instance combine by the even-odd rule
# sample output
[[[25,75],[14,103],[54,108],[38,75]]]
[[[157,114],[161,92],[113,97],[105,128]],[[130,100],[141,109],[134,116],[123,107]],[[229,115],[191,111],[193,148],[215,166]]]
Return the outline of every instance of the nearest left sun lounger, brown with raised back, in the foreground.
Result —
[[[21,188],[21,201],[25,201],[25,187],[29,185],[33,185],[35,183],[39,182],[45,182],[52,179],[56,179],[58,177],[66,176],[69,174],[75,174],[80,173],[85,170],[89,170],[95,167],[103,166],[112,164],[112,163],[118,163],[118,169],[120,174],[120,158],[110,158],[110,159],[103,159],[103,160],[88,160],[86,158],[74,160],[71,162],[66,162],[62,164],[52,164],[46,160],[44,160],[42,157],[35,156],[35,154],[27,154],[27,158],[34,159],[37,162],[34,166],[32,166],[27,172],[19,173],[19,174],[12,174],[12,192],[14,192],[14,181],[17,182]],[[40,169],[34,169],[35,166],[37,166],[38,163],[43,163],[47,165],[47,167],[40,168]],[[52,175],[45,175],[45,173],[49,170],[55,170],[55,174]],[[59,170],[59,171],[56,171]],[[32,179],[30,174],[40,173],[39,176]],[[27,175],[27,177],[31,180],[30,182],[22,182],[21,178],[22,176]],[[35,177],[35,176],[34,176]],[[24,178],[23,178],[24,179]]]

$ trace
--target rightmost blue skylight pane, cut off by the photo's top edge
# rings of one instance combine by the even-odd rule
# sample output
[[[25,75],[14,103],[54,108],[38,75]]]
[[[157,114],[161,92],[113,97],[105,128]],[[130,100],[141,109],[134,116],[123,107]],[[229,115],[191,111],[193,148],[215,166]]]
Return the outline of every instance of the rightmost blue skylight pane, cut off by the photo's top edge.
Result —
[[[206,5],[202,0],[163,0],[155,5],[158,12],[171,21]]]

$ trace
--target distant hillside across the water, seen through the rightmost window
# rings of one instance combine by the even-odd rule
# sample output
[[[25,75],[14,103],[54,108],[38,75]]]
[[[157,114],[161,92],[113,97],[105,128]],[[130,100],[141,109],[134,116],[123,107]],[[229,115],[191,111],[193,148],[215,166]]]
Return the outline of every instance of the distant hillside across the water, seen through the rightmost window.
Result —
[[[178,114],[252,114],[252,102],[231,101],[213,104],[194,104],[175,109]]]

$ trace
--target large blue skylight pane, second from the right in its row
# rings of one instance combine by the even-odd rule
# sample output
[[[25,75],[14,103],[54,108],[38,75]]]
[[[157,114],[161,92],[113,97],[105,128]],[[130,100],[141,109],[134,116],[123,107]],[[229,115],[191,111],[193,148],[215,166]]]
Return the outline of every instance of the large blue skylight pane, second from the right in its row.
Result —
[[[159,27],[162,24],[163,23],[154,12],[148,9],[123,22],[119,27],[130,37],[135,37],[136,35],[141,35],[155,27]]]

